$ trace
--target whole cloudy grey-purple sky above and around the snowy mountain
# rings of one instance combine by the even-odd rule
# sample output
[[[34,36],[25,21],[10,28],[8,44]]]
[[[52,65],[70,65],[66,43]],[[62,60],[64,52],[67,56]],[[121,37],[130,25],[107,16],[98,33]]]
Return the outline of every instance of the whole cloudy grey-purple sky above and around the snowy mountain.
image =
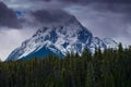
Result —
[[[44,24],[71,16],[96,37],[131,45],[131,0],[0,0],[0,59]]]

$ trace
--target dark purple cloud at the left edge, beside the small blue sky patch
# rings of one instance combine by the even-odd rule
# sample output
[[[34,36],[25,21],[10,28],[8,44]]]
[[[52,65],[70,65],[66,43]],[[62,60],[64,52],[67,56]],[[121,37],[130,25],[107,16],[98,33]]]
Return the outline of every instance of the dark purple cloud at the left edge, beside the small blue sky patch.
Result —
[[[3,2],[0,2],[0,26],[21,27],[15,12],[9,9]]]

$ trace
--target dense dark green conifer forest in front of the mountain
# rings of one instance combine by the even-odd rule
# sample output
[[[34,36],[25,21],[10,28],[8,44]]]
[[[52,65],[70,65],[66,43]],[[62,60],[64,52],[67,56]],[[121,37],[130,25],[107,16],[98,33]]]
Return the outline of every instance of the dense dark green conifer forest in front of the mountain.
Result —
[[[1,62],[0,87],[131,87],[131,47]]]

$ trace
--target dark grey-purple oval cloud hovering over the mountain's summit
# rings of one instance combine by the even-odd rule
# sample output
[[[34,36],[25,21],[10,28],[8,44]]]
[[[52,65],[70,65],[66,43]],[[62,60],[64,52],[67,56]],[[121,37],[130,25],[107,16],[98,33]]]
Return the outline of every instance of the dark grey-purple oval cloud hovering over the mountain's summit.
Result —
[[[73,15],[67,13],[63,10],[38,10],[32,12],[32,15],[35,17],[36,21],[40,22],[41,24],[60,24],[66,23],[69,21]]]

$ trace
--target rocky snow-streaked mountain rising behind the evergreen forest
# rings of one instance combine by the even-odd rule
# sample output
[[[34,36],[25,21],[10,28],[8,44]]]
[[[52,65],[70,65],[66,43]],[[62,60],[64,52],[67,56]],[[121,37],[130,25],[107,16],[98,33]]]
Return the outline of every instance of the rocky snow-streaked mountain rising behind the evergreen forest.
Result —
[[[87,28],[72,16],[64,23],[49,24],[39,28],[21,47],[12,51],[7,61],[41,58],[48,54],[62,58],[71,51],[81,54],[84,48],[94,52],[96,47],[102,49],[115,48],[117,42],[109,38],[94,37]]]

